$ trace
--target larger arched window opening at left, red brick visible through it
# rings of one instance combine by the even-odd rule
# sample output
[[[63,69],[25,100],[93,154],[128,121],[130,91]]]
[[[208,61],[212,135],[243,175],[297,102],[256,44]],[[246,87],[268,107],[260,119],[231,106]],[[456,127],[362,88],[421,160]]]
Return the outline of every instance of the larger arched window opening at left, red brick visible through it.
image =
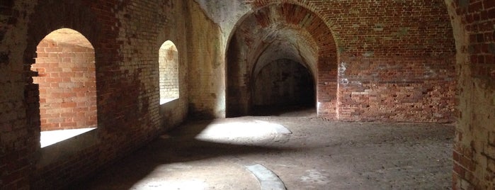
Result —
[[[69,28],[55,30],[37,46],[31,69],[40,86],[41,147],[96,128],[94,48]]]

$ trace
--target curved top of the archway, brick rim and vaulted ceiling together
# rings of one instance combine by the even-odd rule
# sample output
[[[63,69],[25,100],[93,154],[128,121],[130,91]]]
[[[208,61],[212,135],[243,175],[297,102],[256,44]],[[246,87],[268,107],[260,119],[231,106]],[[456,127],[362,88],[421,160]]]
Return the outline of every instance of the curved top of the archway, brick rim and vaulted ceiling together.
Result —
[[[253,77],[261,68],[280,59],[300,62],[316,74],[319,56],[336,54],[333,37],[322,19],[295,4],[256,9],[238,22],[233,40],[246,46],[244,56]]]

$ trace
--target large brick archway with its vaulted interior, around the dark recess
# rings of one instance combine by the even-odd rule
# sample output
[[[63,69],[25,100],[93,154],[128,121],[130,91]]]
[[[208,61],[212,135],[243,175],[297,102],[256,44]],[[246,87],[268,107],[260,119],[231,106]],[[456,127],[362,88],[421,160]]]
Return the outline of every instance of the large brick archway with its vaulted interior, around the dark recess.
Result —
[[[253,113],[260,99],[256,95],[258,74],[277,60],[292,60],[305,67],[305,73],[312,75],[313,105],[319,116],[336,118],[336,44],[319,16],[295,4],[263,6],[234,27],[226,52],[227,117]]]

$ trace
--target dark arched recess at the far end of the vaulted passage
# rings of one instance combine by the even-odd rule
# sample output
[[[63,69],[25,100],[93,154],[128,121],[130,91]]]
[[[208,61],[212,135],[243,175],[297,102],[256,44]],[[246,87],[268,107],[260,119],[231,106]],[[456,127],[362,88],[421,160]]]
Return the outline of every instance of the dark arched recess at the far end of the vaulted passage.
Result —
[[[253,97],[251,113],[256,116],[316,110],[314,77],[293,60],[274,60],[263,67],[254,79]]]

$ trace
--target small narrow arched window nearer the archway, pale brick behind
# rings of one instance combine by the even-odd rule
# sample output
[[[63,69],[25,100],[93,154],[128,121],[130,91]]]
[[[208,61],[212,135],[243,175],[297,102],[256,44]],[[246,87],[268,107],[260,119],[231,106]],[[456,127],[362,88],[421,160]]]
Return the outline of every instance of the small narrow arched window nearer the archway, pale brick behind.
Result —
[[[170,40],[163,43],[159,50],[159,80],[160,104],[179,98],[178,52]]]

